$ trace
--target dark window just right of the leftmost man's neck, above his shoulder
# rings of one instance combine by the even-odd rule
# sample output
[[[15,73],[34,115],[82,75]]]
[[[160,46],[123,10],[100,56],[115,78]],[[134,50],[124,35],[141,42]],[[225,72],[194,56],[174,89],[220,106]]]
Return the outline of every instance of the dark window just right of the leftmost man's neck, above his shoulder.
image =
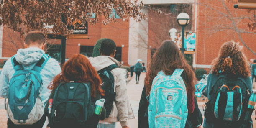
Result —
[[[47,44],[46,53],[49,54],[52,58],[60,62],[61,57],[61,45],[60,44]]]

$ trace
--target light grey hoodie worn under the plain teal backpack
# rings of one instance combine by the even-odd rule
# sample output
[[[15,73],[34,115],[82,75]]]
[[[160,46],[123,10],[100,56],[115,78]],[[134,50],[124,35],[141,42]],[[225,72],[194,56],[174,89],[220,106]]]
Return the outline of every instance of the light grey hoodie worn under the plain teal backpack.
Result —
[[[22,64],[24,69],[32,69],[36,63],[41,59],[44,54],[44,50],[31,47],[26,49],[19,49],[17,51],[15,59],[18,61],[19,64]],[[13,69],[13,65],[11,59],[6,61],[1,75],[0,75],[0,96],[6,97],[7,90],[8,90],[8,83],[12,78],[15,70]],[[53,58],[50,58],[43,69],[40,72],[40,75],[43,80],[43,87],[42,87],[42,103],[46,103],[48,97],[50,95],[50,90],[47,89],[48,85],[54,77],[61,73],[61,68],[59,66],[58,61]]]

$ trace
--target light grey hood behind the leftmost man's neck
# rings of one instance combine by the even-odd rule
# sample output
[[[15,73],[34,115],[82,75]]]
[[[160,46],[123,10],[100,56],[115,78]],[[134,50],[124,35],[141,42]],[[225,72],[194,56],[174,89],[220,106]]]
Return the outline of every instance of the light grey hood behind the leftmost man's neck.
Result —
[[[15,59],[19,64],[28,66],[39,61],[44,53],[44,50],[35,47],[19,49]]]

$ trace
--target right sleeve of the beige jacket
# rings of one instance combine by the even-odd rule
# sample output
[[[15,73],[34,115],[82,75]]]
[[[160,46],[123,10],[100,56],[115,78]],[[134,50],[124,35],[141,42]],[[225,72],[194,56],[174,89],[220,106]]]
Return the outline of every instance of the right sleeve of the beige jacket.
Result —
[[[115,104],[118,109],[118,120],[121,126],[128,125],[128,107],[127,107],[127,89],[126,89],[126,79],[119,68],[113,69],[115,73]]]

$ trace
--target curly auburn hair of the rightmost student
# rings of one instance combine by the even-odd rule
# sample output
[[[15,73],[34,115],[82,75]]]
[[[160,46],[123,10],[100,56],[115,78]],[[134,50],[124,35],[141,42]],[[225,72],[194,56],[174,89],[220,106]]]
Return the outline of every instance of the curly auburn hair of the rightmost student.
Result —
[[[242,46],[234,41],[228,41],[221,46],[220,53],[212,65],[212,74],[217,76],[220,71],[242,77],[251,75],[246,56],[242,52]]]

